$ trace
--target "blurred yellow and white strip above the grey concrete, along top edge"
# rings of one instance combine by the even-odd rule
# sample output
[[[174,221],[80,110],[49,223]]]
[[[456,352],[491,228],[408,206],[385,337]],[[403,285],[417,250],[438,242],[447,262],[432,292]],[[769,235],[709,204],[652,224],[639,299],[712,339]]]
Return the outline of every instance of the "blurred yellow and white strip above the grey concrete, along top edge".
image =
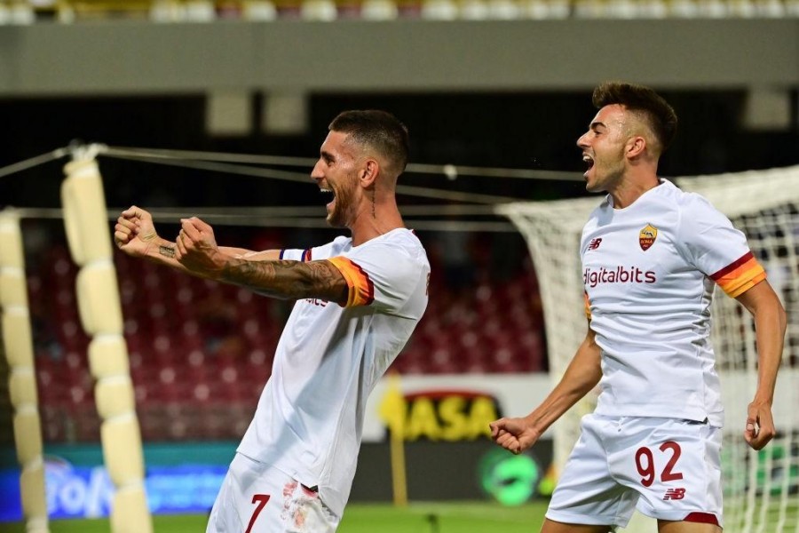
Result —
[[[144,19],[550,20],[799,18],[799,0],[0,0],[0,24]]]

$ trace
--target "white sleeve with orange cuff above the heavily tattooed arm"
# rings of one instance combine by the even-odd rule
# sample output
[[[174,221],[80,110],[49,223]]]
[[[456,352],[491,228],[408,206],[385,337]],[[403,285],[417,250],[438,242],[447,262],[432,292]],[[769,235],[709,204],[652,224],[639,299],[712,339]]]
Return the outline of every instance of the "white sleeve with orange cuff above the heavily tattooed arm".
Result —
[[[404,307],[430,272],[401,246],[379,244],[328,259],[344,275],[349,295],[344,306],[375,306],[392,312]]]

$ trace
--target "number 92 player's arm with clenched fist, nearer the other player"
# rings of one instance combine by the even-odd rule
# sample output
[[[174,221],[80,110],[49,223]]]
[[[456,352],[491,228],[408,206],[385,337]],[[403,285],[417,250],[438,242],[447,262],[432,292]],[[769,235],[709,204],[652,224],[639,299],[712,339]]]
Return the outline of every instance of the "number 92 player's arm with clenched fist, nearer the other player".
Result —
[[[522,418],[500,418],[491,423],[494,442],[520,453],[534,445],[541,435],[569,408],[597,386],[602,378],[599,346],[596,334],[590,328],[577,348],[563,378],[546,399],[533,412]]]

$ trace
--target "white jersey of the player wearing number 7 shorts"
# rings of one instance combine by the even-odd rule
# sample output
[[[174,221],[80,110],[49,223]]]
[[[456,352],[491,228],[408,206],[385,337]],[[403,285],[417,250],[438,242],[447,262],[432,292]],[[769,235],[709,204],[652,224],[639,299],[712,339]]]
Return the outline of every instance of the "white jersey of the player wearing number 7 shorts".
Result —
[[[238,451],[318,486],[341,516],[368,394],[422,318],[430,263],[404,228],[360,246],[342,236],[311,250],[285,250],[281,259],[328,259],[344,274],[349,299],[346,306],[297,301]]]

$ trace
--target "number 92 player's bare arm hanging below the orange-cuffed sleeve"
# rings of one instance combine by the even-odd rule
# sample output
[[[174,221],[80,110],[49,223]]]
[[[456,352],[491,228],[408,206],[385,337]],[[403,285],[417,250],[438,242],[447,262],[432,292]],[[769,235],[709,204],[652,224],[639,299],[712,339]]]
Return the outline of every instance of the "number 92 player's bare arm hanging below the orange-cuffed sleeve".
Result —
[[[736,299],[755,318],[757,342],[757,390],[748,406],[744,438],[752,448],[762,449],[777,433],[771,404],[785,342],[786,314],[767,281],[757,283]]]

